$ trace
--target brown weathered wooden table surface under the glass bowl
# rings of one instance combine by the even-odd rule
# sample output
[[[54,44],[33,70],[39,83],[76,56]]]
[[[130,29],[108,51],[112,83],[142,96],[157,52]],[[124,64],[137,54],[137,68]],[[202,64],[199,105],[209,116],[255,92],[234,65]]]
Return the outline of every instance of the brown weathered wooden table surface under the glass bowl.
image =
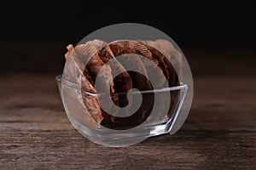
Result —
[[[195,96],[183,127],[124,148],[73,128],[55,74],[2,75],[0,169],[256,169],[256,59],[242,54],[189,57]]]

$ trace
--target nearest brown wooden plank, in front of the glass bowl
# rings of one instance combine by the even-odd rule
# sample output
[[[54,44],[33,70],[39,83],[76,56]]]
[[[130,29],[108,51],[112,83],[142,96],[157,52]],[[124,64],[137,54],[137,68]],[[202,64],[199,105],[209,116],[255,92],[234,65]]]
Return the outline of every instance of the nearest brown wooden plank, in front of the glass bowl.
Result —
[[[1,169],[253,169],[255,132],[181,130],[125,148],[91,143],[75,130],[0,133]]]

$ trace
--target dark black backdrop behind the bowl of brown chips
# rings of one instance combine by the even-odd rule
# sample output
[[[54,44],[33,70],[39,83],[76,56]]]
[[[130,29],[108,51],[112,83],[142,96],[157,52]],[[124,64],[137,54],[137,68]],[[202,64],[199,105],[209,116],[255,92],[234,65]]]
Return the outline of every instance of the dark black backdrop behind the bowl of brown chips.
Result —
[[[212,59],[221,53],[235,58],[234,51],[255,54],[255,5],[245,1],[9,1],[1,4],[0,16],[1,75],[61,73],[67,44],[122,22],[166,32],[188,60],[192,56]],[[239,57],[246,62],[247,58]]]

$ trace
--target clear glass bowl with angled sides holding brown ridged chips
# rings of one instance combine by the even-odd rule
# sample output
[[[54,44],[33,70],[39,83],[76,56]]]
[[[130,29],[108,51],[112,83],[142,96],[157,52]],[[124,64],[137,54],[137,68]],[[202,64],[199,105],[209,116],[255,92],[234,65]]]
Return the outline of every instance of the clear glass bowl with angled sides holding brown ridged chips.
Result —
[[[170,95],[172,93],[178,94],[177,102],[175,105],[165,103],[167,111],[158,109],[153,114],[149,114],[147,119],[136,126],[133,123],[132,127],[123,129],[106,127],[97,123],[91,118],[88,113],[82,99],[81,89],[78,84],[68,81],[62,75],[57,76],[56,82],[61,94],[61,100],[64,105],[67,117],[72,122],[79,133],[84,135],[87,139],[97,143],[108,146],[127,146],[131,144],[137,144],[144,139],[151,136],[156,136],[164,133],[175,133],[179,127],[182,126],[184,120],[188,115],[188,111],[181,111],[183,114],[179,114],[185,99],[188,86],[184,83],[180,83],[180,86],[172,88],[154,89],[148,91],[134,91],[126,94],[131,99],[137,99],[142,95],[155,95],[161,97],[162,95]],[[93,98],[100,98],[104,94],[91,94],[84,92]],[[167,100],[168,102],[168,100]],[[148,104],[150,107],[150,104]],[[174,107],[174,108],[171,108]],[[161,107],[160,107],[161,108]],[[184,115],[185,114],[185,115]]]

